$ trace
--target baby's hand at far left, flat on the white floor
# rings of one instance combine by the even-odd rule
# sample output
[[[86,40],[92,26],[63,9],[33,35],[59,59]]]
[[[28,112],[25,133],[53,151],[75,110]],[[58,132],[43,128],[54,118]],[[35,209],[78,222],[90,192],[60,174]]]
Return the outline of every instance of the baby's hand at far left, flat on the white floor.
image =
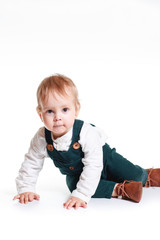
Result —
[[[25,203],[27,204],[28,202],[32,202],[34,199],[39,200],[40,196],[36,193],[32,192],[24,192],[21,194],[16,195],[13,200],[19,199],[20,203]]]

